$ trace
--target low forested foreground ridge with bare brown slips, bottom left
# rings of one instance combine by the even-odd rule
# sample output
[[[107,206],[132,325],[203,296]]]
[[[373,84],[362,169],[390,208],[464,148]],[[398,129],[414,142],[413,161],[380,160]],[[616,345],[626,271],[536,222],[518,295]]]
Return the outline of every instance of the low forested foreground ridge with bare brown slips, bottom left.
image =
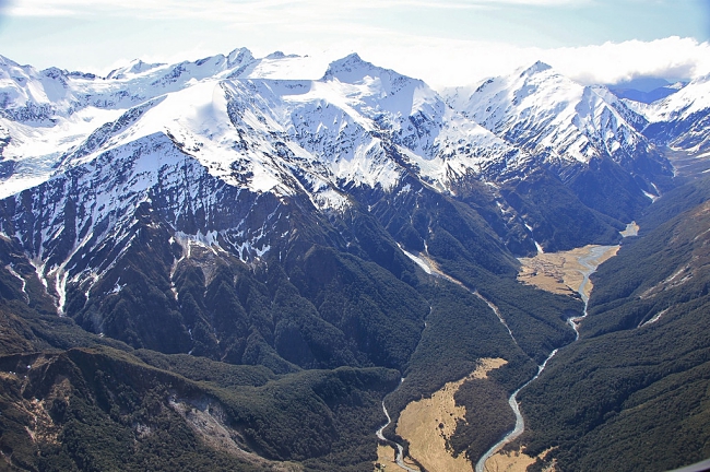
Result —
[[[275,377],[189,356],[175,359],[179,368],[156,368],[150,363],[167,364],[156,353],[137,354],[147,363],[107,349],[0,357],[3,462],[11,470],[295,471],[303,467],[292,461],[320,457],[308,469],[363,470],[380,398],[399,378],[350,368]]]

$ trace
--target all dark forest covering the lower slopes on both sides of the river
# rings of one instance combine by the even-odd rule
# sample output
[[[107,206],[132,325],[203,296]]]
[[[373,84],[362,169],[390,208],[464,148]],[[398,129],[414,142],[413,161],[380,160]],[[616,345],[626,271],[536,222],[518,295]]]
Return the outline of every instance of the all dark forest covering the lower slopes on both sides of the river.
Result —
[[[280,211],[291,236],[251,262],[186,248],[159,199],[143,202],[130,245],[84,258],[116,257],[68,283],[62,316],[57,281],[45,286],[0,237],[0,468],[371,471],[382,401],[386,436],[406,447],[394,429],[409,402],[501,357],[455,396],[468,413],[449,447],[475,462],[512,428],[508,397],[555,349],[519,396],[518,444],[554,448],[533,469],[664,470],[710,455],[707,182],[638,219],[641,235],[594,275],[576,343],[567,319],[582,302],[516,281],[516,257],[535,249],[520,219],[501,216],[501,196],[549,250],[616,243],[641,201],[604,213],[608,199],[584,203],[544,172],[500,193],[462,181],[457,198],[401,185],[413,191],[352,189],[343,214],[255,197],[251,217]]]

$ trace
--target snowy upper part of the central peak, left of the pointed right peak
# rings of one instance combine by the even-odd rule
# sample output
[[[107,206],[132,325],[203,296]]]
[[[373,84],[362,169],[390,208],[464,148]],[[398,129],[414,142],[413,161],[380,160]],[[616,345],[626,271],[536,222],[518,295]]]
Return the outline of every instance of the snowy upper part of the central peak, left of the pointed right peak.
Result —
[[[344,187],[392,189],[405,170],[413,170],[448,191],[451,180],[469,173],[529,160],[453,111],[424,82],[357,55],[333,62],[318,81],[250,80],[230,84],[229,91],[237,128],[268,140],[273,129],[248,119],[253,114],[259,122],[273,123],[284,140],[300,148],[295,150],[300,157],[318,162]],[[245,107],[255,96],[261,103]]]

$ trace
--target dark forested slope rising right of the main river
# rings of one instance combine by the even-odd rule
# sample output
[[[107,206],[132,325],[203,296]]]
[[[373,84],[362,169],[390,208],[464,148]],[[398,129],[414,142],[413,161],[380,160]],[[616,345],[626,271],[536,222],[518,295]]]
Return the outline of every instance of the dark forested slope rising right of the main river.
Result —
[[[594,275],[581,340],[521,392],[532,456],[663,471],[710,455],[708,184],[665,194]]]

